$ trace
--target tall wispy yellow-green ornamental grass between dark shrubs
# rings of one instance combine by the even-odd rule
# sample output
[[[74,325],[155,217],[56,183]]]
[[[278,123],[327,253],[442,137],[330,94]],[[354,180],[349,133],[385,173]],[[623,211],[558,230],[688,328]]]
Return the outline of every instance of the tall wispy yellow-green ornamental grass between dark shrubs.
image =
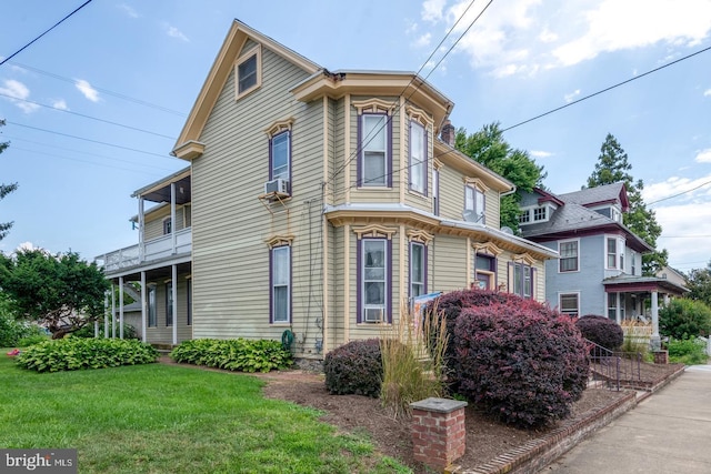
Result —
[[[431,311],[424,314],[423,323],[415,330],[404,310],[398,324],[385,326],[381,333],[383,375],[380,399],[394,417],[409,413],[410,403],[444,394],[444,319],[432,317]]]

